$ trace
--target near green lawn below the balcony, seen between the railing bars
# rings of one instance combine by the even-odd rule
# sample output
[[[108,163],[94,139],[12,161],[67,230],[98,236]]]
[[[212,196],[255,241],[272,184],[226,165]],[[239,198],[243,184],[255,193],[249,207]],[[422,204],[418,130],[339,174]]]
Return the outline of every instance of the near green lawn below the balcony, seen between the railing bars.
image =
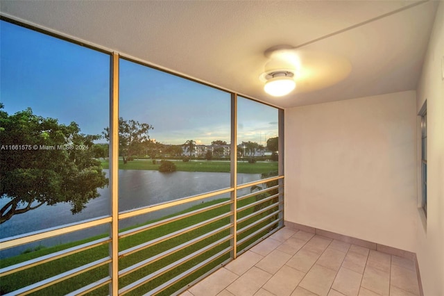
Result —
[[[181,213],[186,213],[189,211],[194,211],[198,208],[203,208],[205,206],[210,206],[211,204],[216,204],[225,201],[226,199],[218,199],[211,202],[205,202],[203,204],[199,204],[197,206],[192,206],[188,208],[185,211],[182,211],[180,213],[176,213],[173,215],[169,215],[167,217],[171,217],[174,215],[180,215]],[[250,204],[252,202],[255,202],[255,197],[249,197],[248,199],[244,199],[238,202],[238,207],[244,206],[246,204]],[[245,211],[242,211],[239,213],[239,217],[244,217],[245,215],[248,215],[250,213],[253,213],[254,207],[248,208]],[[273,209],[275,211],[275,208]],[[160,227],[155,227],[154,229],[149,229],[147,231],[143,231],[141,233],[137,233],[133,236],[130,236],[128,238],[123,238],[119,240],[119,250],[128,249],[130,247],[133,247],[135,245],[142,244],[144,242],[147,242],[148,240],[153,240],[155,238],[159,238],[161,236],[166,235],[167,233],[172,233],[173,231],[178,231],[180,229],[184,229],[185,227],[189,227],[191,225],[197,224],[199,222],[203,222],[205,220],[210,219],[211,217],[215,217],[217,215],[221,215],[223,213],[230,212],[230,206],[220,206],[219,208],[214,208],[210,211],[207,211],[205,213],[198,213],[195,215],[191,215],[187,218],[183,218],[178,221],[170,222],[168,224],[164,224]],[[242,223],[242,227],[246,226],[246,224],[250,224],[261,217],[264,217],[264,215],[267,215],[268,213],[271,213],[271,211],[267,211],[266,213],[262,213],[260,215],[257,215],[257,217],[253,217],[247,222]],[[167,217],[163,217],[159,220],[164,220]],[[253,229],[250,229],[246,231],[246,233],[242,233],[241,237],[245,237],[248,235],[248,233],[252,233],[253,231],[259,229],[260,227],[264,226],[268,222],[271,222],[271,220],[274,220],[273,218],[268,218],[265,222],[262,222],[261,224],[257,225]],[[146,224],[150,224],[152,222],[155,222],[158,220],[148,221]],[[136,252],[135,254],[130,254],[128,256],[123,256],[122,258],[119,258],[119,270],[123,270],[124,268],[128,268],[131,265],[134,265],[135,263],[138,263],[140,261],[143,261],[146,258],[150,258],[151,256],[154,256],[155,254],[160,254],[168,249],[171,249],[173,247],[176,247],[184,242],[189,242],[189,240],[192,240],[194,238],[197,238],[198,236],[203,235],[204,233],[208,233],[214,229],[217,229],[219,227],[222,227],[223,225],[229,224],[230,218],[226,217],[221,220],[217,220],[216,222],[212,222],[211,224],[207,224],[203,227],[200,227],[198,229],[195,229],[193,231],[189,231],[187,233],[182,233],[180,236],[177,236],[176,238],[171,238],[167,241],[160,242],[157,245],[153,245],[151,247],[148,247],[146,249],[142,249],[139,252]],[[241,227],[241,225],[239,225]],[[124,229],[127,230],[127,229]],[[262,233],[259,233],[259,236],[264,236],[264,234],[271,229],[267,229],[266,231],[262,231]],[[221,231],[220,233],[216,233],[210,238],[206,238],[205,240],[202,240],[200,242],[196,242],[194,245],[189,245],[185,249],[181,249],[178,252],[174,252],[173,254],[170,254],[169,256],[166,256],[164,258],[161,258],[158,261],[155,261],[151,263],[150,265],[140,268],[139,270],[136,270],[135,272],[132,272],[124,277],[121,277],[119,279],[119,288],[122,288],[123,286],[127,286],[129,283],[133,283],[134,281],[137,281],[138,279],[141,279],[142,277],[146,277],[146,275],[151,274],[152,272],[155,272],[156,270],[160,270],[161,268],[164,268],[165,266],[173,263],[174,261],[179,260],[180,258],[184,258],[188,254],[191,254],[192,252],[196,252],[198,249],[202,249],[206,245],[209,245],[212,242],[215,242],[216,240],[219,240],[225,236],[228,236],[230,233],[230,229],[227,229],[225,231]],[[259,237],[258,236],[258,237]],[[67,249],[68,247],[73,247],[74,245],[80,245],[86,241],[94,240],[99,237],[95,238],[89,238],[87,240],[82,240],[78,242],[71,242],[69,244],[65,245],[58,245],[56,247],[47,247],[43,249],[38,249],[35,252],[30,252],[27,254],[22,254],[19,256],[15,256],[12,258],[6,258],[2,260],[1,265],[2,267],[12,265],[15,263],[23,262],[26,260],[29,260],[31,258],[37,258],[39,256],[43,256],[44,254],[51,254],[53,252],[57,252],[61,249]],[[240,239],[240,238],[239,238]],[[245,247],[246,245],[249,245],[253,240],[256,238],[253,238],[246,242],[240,249]],[[198,263],[204,261],[206,258],[209,258],[213,254],[216,254],[217,252],[220,252],[221,250],[225,249],[230,245],[230,242],[224,242],[221,245],[218,245],[214,247],[214,249],[211,249],[208,252],[205,252],[204,254],[199,255],[196,258],[191,259],[187,263],[183,263],[182,265],[173,268],[173,270],[170,270],[164,274],[161,274],[159,277],[154,277],[151,279],[148,283],[145,283],[143,286],[136,288],[135,290],[128,293],[128,295],[142,295],[144,293],[149,292],[153,288],[160,286],[165,281],[168,281],[169,279],[176,277],[176,275],[180,274],[181,272],[184,272],[186,270],[189,270],[194,265],[197,265]],[[105,256],[108,256],[108,245],[102,245],[100,247],[95,247],[94,249],[89,249],[84,252],[80,252],[78,254],[72,254],[70,256],[67,256],[65,258],[57,259],[56,261],[51,261],[49,263],[44,263],[42,265],[29,268],[28,270],[24,270],[21,272],[16,272],[15,274],[10,274],[6,277],[1,278],[1,291],[0,294],[11,292],[12,290],[16,290],[18,288],[27,286],[31,283],[34,283],[36,281],[41,281],[43,279],[47,279],[49,277],[55,276],[56,274],[60,274],[62,272],[66,272],[67,270],[71,270],[72,268],[76,268],[78,266],[90,263],[92,261],[99,260],[100,258],[104,258]],[[175,285],[171,286],[167,290],[164,290],[159,295],[171,295],[175,290],[178,290],[179,288],[185,286],[187,283],[193,281],[194,279],[198,278],[201,274],[204,274],[208,270],[214,268],[216,265],[219,265],[223,261],[225,261],[227,258],[230,258],[229,254],[225,254],[223,257],[219,258],[218,260],[210,263],[209,265],[205,266],[205,268],[202,268],[201,270],[198,270],[198,272],[195,272],[194,274],[189,275],[187,278],[182,279]],[[90,270],[88,272],[85,272],[83,274],[80,274],[76,277],[73,277],[71,279],[67,279],[66,281],[62,281],[60,283],[56,283],[53,286],[49,286],[48,288],[44,288],[40,291],[37,291],[37,293],[33,293],[33,295],[65,295],[66,293],[71,292],[72,290],[75,290],[77,288],[81,288],[82,286],[86,286],[89,283],[92,283],[94,281],[97,281],[99,279],[102,279],[103,277],[108,276],[108,265],[103,265],[98,268],[94,268],[93,270]],[[102,288],[99,288],[97,290],[92,291],[88,295],[108,295],[108,286],[104,286]]]

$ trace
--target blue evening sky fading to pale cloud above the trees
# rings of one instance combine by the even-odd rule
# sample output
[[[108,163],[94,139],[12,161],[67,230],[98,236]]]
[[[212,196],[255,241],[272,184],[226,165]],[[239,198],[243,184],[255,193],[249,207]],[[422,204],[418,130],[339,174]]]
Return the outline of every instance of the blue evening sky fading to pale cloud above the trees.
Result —
[[[0,23],[0,101],[12,114],[77,122],[101,133],[109,122],[110,56],[57,38]],[[154,126],[164,144],[230,142],[230,94],[128,60],[120,64],[119,116]],[[266,144],[278,134],[278,110],[239,98],[238,141]]]

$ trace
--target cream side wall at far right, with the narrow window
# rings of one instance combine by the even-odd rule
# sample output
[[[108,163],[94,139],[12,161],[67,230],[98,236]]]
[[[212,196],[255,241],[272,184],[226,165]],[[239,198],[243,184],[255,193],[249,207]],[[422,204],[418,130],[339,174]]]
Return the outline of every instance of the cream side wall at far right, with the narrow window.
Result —
[[[418,263],[424,295],[444,295],[444,3],[434,29],[417,91],[416,110],[427,99],[427,222],[417,214]],[[418,163],[420,156],[418,155]]]

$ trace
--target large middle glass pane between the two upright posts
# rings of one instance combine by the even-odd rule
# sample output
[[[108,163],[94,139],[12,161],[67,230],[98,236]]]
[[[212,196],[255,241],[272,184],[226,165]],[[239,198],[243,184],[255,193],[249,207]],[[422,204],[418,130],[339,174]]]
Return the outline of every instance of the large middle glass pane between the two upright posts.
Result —
[[[230,93],[121,59],[119,99],[119,211],[230,187]]]

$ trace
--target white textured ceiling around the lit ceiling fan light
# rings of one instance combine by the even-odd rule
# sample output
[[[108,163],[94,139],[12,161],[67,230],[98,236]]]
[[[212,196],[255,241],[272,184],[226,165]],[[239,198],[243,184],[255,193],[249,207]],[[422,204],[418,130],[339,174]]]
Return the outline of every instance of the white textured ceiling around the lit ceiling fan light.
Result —
[[[438,1],[0,1],[6,17],[282,108],[415,90],[437,6]],[[259,76],[267,62],[264,51],[281,44],[342,58],[351,72],[321,89],[322,81],[310,88],[307,79],[307,88],[273,98]],[[334,75],[336,65],[325,64]]]

